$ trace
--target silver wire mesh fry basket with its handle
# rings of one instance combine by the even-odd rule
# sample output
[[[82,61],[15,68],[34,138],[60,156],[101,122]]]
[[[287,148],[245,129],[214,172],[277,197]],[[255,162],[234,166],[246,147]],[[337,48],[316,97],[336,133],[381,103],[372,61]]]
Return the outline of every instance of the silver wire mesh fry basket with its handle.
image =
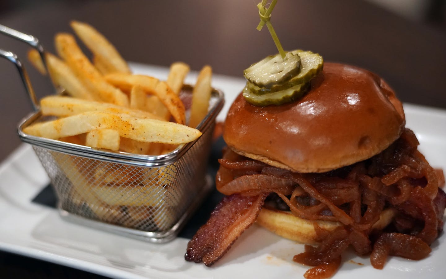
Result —
[[[28,36],[32,43],[27,42],[43,53],[32,36],[3,25],[0,33],[22,41]],[[18,134],[33,145],[50,177],[61,216],[150,242],[174,238],[211,190],[212,179],[206,176],[206,168],[215,118],[224,103],[223,92],[212,90],[208,113],[197,127],[202,136],[194,142],[159,156],[109,152],[25,134],[25,127],[47,118],[41,115],[18,57],[0,51],[2,57],[16,64],[35,108],[20,124]],[[191,86],[184,86],[182,93],[191,94]]]

